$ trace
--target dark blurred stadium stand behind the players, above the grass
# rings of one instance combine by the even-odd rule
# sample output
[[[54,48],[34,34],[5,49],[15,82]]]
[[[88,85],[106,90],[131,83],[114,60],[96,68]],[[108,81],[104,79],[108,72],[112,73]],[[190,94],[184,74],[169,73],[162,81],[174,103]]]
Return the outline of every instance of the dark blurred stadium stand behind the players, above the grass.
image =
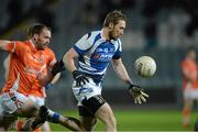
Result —
[[[127,86],[110,66],[102,95],[113,107],[182,108],[180,61],[188,46],[198,47],[197,0],[0,0],[0,38],[25,40],[24,31],[34,23],[53,29],[51,47],[57,58],[89,31],[101,30],[106,14],[121,10],[128,16],[122,37],[123,63],[135,84],[150,94],[144,107],[136,107]],[[150,55],[157,70],[152,78],[134,73],[134,61]],[[0,52],[3,62],[6,52]],[[3,67],[0,85],[3,86]],[[74,109],[72,77],[66,70],[47,91],[47,105],[54,109]]]

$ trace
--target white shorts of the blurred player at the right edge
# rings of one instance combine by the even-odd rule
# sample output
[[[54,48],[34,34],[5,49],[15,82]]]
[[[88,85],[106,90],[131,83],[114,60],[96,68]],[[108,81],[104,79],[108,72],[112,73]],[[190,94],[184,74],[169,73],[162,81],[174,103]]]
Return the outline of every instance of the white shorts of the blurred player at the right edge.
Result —
[[[198,99],[198,88],[186,88],[184,90],[184,98],[185,99]]]

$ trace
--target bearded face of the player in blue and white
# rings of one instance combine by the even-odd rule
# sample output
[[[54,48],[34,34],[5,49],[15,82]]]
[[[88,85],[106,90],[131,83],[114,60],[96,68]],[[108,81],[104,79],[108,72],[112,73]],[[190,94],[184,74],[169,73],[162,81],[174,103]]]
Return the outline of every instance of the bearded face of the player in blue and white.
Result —
[[[112,30],[109,32],[109,37],[112,40],[118,40],[121,37],[125,30],[125,21],[119,20],[118,24],[113,25]]]

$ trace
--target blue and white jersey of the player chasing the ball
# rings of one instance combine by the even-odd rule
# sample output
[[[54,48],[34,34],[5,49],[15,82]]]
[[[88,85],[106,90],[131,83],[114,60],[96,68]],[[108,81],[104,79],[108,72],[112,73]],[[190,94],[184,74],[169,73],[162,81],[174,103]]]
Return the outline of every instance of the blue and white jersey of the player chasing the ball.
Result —
[[[105,75],[111,59],[121,57],[121,41],[107,41],[101,31],[84,35],[74,46],[78,53],[79,70],[89,75]]]

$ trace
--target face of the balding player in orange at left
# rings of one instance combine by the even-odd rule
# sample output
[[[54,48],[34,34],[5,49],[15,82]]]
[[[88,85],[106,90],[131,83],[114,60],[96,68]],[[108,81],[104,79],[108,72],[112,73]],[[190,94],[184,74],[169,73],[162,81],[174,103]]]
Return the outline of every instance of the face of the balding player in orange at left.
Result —
[[[51,31],[47,29],[43,29],[43,31],[40,33],[40,35],[36,38],[36,46],[38,50],[44,50],[50,45],[51,42]]]

